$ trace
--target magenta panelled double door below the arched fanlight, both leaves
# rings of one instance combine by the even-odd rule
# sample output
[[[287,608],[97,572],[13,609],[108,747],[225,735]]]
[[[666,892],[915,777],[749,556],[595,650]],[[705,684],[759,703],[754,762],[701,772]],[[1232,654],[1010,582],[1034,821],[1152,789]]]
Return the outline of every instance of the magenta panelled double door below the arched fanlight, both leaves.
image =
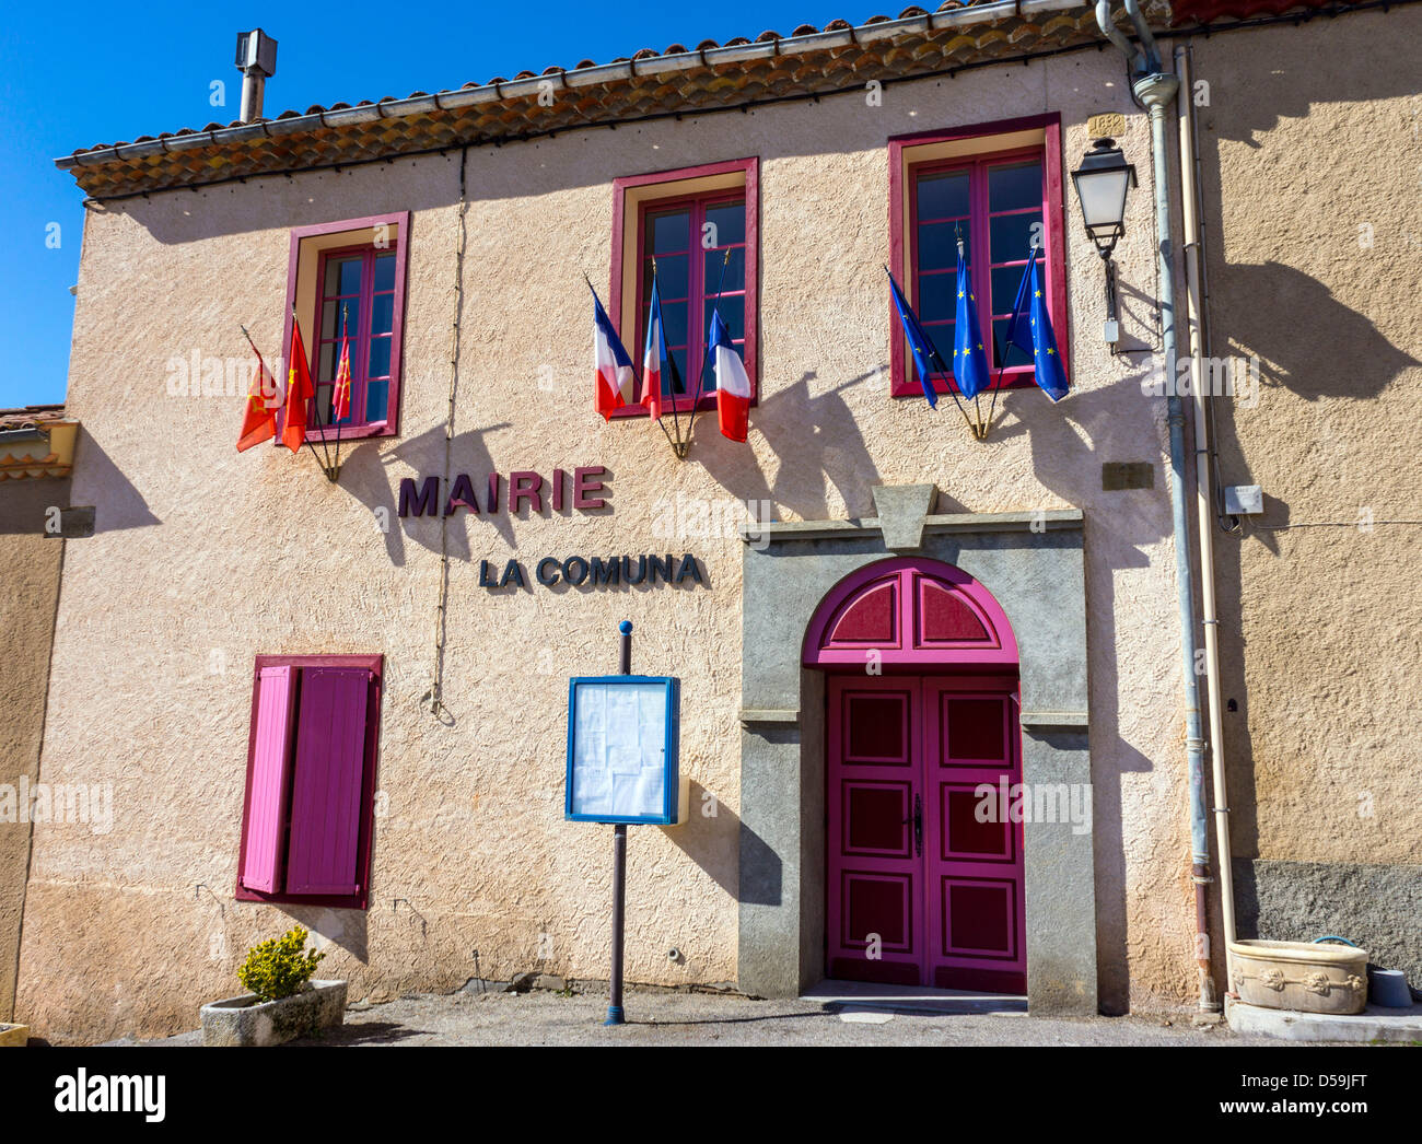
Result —
[[[1015,675],[830,676],[829,976],[1027,992],[1017,702]]]

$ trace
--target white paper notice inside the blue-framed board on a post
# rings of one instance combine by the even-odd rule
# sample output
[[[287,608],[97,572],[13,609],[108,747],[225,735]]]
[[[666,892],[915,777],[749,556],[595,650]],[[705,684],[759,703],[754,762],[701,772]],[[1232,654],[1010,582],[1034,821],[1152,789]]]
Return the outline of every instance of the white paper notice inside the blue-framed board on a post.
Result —
[[[660,817],[665,811],[664,684],[579,684],[573,813]]]

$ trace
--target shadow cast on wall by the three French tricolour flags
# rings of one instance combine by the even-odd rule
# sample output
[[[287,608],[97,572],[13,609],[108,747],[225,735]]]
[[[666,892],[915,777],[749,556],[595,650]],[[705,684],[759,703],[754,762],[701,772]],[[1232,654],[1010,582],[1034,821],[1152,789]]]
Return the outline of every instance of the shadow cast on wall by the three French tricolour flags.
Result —
[[[879,469],[843,392],[877,377],[883,377],[882,369],[812,392],[811,384],[819,374],[808,371],[792,385],[769,394],[762,387],[752,421],[757,435],[781,460],[774,480],[744,445],[721,436],[714,409],[697,418],[697,459],[738,500],[768,500],[774,519],[784,519],[782,512],[788,510],[801,520],[825,520],[826,482],[843,499],[850,517],[873,516],[869,489],[879,483]],[[788,463],[791,458],[793,463]]]

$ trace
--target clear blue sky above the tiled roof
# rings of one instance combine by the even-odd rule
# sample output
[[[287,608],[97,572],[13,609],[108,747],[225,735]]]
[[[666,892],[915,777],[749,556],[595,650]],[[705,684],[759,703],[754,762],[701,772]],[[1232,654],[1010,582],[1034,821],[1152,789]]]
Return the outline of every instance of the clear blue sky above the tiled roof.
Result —
[[[274,115],[483,82],[549,64],[603,63],[644,47],[694,47],[708,37],[754,38],[766,28],[789,36],[799,24],[822,27],[839,16],[862,23],[879,11],[897,16],[904,3],[856,10],[813,0],[421,6],[421,13],[438,13],[431,23],[407,21],[402,7],[388,0],[330,7],[191,0],[16,6],[0,21],[0,193],[10,225],[0,274],[7,362],[0,406],[64,399],[74,324],[68,288],[78,277],[84,196],[51,161],[78,146],[235,119],[239,31],[262,27],[279,43],[277,74],[266,91],[266,109]],[[226,107],[209,105],[213,80],[226,84]]]

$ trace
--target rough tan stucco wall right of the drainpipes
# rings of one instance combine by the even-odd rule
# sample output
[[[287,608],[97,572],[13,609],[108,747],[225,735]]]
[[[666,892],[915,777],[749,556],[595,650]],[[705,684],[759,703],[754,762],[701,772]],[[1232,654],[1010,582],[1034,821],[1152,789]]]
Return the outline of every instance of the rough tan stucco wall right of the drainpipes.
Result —
[[[1221,468],[1293,526],[1217,543],[1244,858],[1422,861],[1419,41],[1404,7],[1194,47],[1216,354],[1261,360]]]

